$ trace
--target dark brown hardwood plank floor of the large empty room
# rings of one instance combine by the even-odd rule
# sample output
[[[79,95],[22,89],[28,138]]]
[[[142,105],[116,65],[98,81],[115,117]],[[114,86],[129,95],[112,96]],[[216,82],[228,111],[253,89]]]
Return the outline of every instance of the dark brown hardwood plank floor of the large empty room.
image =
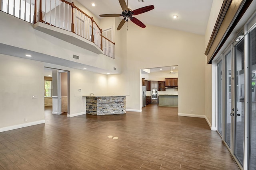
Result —
[[[178,117],[176,107],[71,118],[46,107],[45,119],[0,133],[0,170],[238,170],[205,119]]]

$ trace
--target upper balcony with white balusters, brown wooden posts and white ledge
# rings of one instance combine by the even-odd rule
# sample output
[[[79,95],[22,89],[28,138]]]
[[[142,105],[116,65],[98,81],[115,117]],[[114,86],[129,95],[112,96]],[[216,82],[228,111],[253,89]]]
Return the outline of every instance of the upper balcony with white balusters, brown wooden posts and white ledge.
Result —
[[[0,0],[0,9],[34,24],[34,29],[115,59],[115,43],[94,19],[65,0]]]

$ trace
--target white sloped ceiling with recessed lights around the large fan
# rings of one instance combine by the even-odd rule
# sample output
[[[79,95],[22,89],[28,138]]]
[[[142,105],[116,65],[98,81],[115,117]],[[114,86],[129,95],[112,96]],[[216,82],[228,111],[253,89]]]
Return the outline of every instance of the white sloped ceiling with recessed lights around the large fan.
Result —
[[[213,0],[128,0],[128,8],[154,5],[155,9],[136,16],[145,25],[156,25],[204,35]],[[121,14],[122,8],[118,0],[78,0],[90,12],[99,17],[100,14]],[[96,6],[93,7],[92,3]],[[173,15],[178,15],[173,19]],[[122,17],[120,17],[121,19]]]

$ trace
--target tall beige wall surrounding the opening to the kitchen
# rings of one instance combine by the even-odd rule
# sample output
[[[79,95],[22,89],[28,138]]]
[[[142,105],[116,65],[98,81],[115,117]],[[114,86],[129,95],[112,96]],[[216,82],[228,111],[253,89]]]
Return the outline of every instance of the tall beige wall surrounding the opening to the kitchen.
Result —
[[[128,22],[126,41],[122,74],[111,77],[127,82],[127,109],[141,109],[140,69],[179,65],[179,113],[204,115],[204,36]]]

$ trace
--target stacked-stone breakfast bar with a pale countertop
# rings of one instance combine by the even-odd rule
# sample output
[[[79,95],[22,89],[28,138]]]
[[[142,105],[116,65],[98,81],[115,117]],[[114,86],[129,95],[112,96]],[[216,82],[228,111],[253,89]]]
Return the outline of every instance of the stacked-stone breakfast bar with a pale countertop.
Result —
[[[126,113],[126,96],[83,97],[86,97],[86,114],[116,115]]]

